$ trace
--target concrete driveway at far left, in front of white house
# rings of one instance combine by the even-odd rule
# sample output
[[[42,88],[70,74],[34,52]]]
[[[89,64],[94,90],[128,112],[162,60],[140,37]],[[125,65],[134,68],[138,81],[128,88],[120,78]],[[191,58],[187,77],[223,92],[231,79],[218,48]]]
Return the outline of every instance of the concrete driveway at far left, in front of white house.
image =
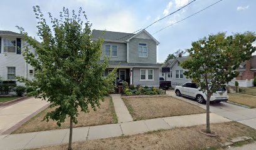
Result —
[[[0,108],[0,135],[47,104],[41,99],[29,98],[11,106]]]

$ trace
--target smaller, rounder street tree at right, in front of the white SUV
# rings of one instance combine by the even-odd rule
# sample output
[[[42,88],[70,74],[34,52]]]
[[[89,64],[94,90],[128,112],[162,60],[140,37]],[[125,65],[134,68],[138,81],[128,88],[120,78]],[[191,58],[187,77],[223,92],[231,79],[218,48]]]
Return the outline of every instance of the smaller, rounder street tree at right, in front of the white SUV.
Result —
[[[233,36],[221,32],[192,42],[192,48],[188,49],[191,57],[181,66],[187,69],[184,75],[198,84],[206,94],[206,133],[211,133],[211,95],[238,75],[235,70],[240,63],[250,59],[256,49],[252,46],[255,39],[253,32]]]

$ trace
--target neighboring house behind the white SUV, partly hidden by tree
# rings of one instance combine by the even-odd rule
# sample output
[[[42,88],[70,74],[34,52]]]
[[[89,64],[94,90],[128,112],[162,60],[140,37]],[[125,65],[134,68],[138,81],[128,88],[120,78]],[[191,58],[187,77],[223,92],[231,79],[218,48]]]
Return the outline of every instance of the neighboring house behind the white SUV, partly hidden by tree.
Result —
[[[170,68],[170,73],[162,73],[162,70],[160,68],[159,77],[163,77],[164,79],[166,78],[166,81],[171,81],[172,87],[175,87],[176,85],[182,85],[186,82],[190,82],[191,79],[188,79],[186,78],[186,76],[183,75],[185,69],[181,68],[181,66],[179,65],[183,61],[186,61],[186,59],[188,58],[189,56],[170,59],[162,66],[162,68]]]

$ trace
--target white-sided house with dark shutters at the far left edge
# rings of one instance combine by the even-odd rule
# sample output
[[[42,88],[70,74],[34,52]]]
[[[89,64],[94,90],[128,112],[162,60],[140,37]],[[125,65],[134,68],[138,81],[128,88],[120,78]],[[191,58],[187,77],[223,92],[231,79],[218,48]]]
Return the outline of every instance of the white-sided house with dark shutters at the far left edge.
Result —
[[[34,70],[22,55],[23,38],[16,32],[0,31],[0,76],[3,80],[15,80],[15,76],[33,79]]]

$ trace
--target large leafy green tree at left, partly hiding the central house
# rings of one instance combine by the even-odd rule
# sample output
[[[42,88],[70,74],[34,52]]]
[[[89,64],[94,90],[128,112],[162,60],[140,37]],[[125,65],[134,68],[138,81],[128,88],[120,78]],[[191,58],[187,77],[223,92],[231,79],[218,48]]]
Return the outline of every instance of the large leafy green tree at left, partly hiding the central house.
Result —
[[[108,66],[106,59],[104,63],[99,63],[103,39],[92,41],[92,24],[82,8],[78,14],[63,8],[60,19],[53,18],[49,13],[51,27],[40,7],[34,6],[33,9],[42,42],[29,37],[22,27],[18,28],[24,34],[24,40],[38,54],[35,56],[28,45],[25,46],[23,55],[26,62],[35,68],[35,79],[28,81],[18,77],[18,80],[34,89],[29,93],[31,96],[49,101],[50,108],[55,108],[46,114],[44,120],[53,119],[61,126],[70,118],[68,149],[72,149],[73,123],[78,123],[78,114],[88,113],[90,106],[94,111],[100,107],[100,100],[103,101],[109,89],[114,88],[116,74],[112,71],[107,78],[102,76]]]

